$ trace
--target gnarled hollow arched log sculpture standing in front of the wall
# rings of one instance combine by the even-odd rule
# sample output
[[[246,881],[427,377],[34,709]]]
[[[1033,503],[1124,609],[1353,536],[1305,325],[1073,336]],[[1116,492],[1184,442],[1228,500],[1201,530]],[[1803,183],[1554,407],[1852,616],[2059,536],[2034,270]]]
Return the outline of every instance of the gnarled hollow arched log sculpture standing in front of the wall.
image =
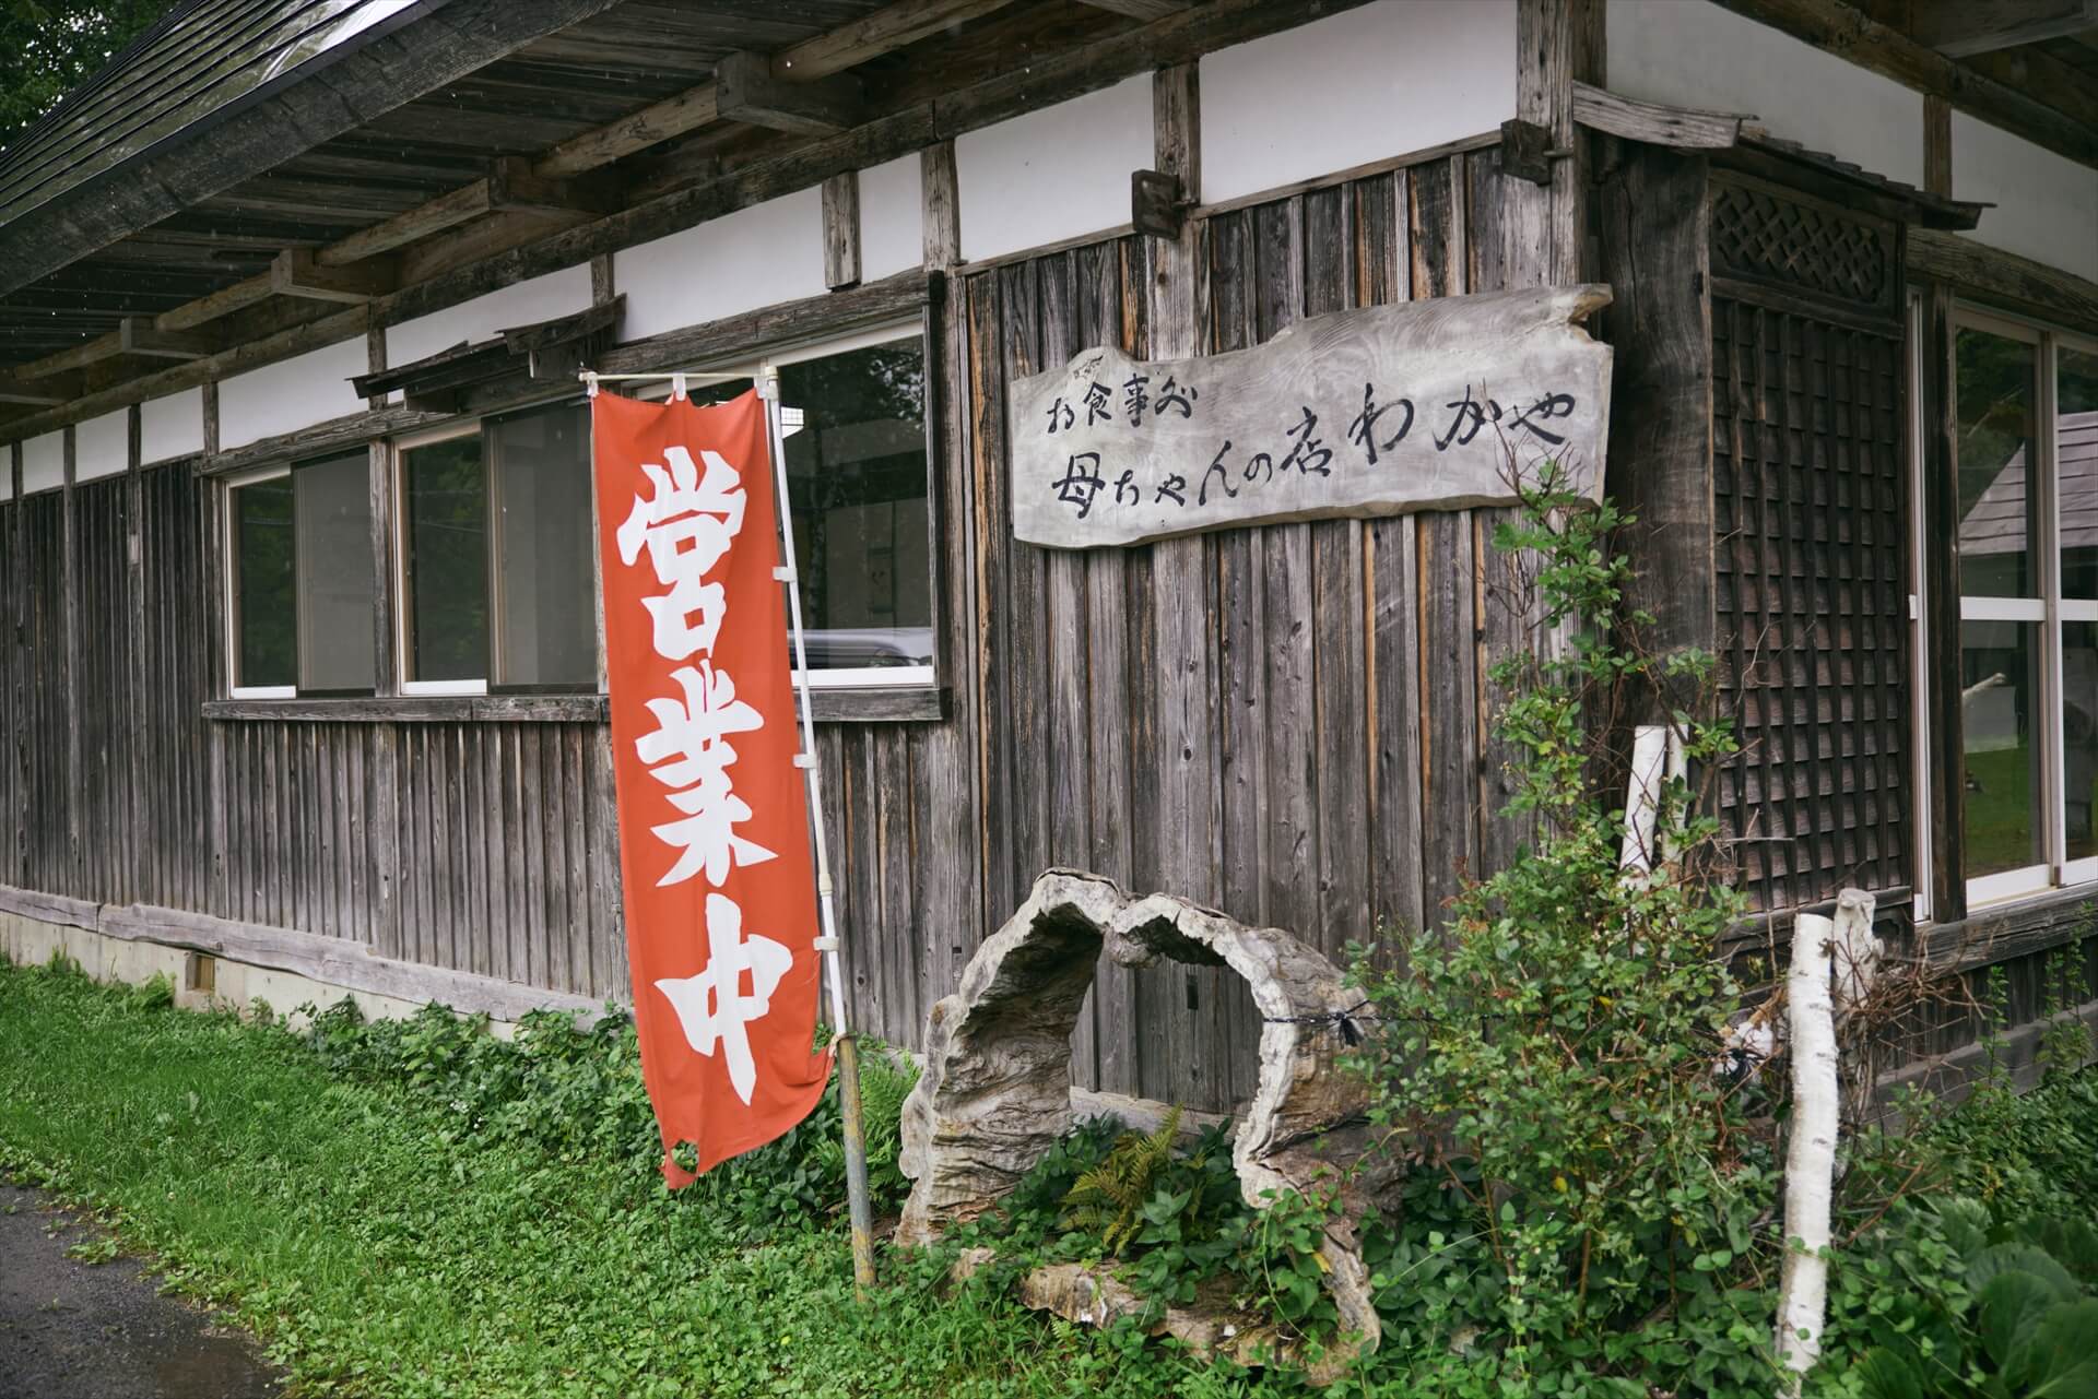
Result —
[[[1259,1089],[1232,1145],[1240,1189],[1339,1189],[1343,1208],[1322,1252],[1345,1340],[1313,1365],[1336,1378],[1378,1340],[1357,1221],[1372,1185],[1343,1179],[1366,1145],[1360,1080],[1343,1074],[1343,1019],[1362,1003],[1341,969],[1276,927],[1246,927],[1169,894],[1131,896],[1112,879],[1047,870],[932,1007],[925,1072],[902,1112],[902,1170],[913,1181],[896,1237],[932,1240],[942,1225],[994,1206],[1072,1126],[1070,1034],[1106,952],[1125,967],[1160,956],[1223,965],[1261,1011]]]

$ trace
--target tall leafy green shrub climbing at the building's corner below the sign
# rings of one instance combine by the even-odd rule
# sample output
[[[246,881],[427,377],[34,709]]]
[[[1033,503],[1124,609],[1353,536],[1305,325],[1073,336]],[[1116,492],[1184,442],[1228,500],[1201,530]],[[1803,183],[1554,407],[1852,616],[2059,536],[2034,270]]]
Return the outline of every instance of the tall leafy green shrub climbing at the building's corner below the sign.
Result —
[[[1775,1250],[1758,1227],[1773,1152],[1714,1074],[1739,1000],[1716,948],[1743,904],[1683,780],[1660,793],[1645,877],[1622,866],[1624,812],[1594,789],[1624,696],[1697,688],[1710,667],[1639,650],[1649,619],[1626,608],[1630,566],[1609,550],[1628,522],[1557,468],[1523,485],[1496,547],[1538,560],[1542,625],[1574,629],[1557,654],[1494,671],[1511,696],[1498,732],[1521,755],[1511,812],[1536,820],[1536,845],[1464,887],[1401,969],[1357,950],[1372,1034],[1351,1068],[1410,1164],[1376,1282],[1422,1393],[1773,1382]],[[1722,726],[1672,722],[1693,766],[1733,753]]]

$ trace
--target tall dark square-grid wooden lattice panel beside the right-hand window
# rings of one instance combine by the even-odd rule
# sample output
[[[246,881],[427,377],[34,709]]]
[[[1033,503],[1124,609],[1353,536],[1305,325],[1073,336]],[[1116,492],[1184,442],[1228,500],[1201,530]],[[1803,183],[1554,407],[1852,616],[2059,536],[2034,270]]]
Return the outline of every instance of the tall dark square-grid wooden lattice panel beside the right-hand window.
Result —
[[[1909,887],[1901,340],[1712,302],[1718,805],[1741,887]]]

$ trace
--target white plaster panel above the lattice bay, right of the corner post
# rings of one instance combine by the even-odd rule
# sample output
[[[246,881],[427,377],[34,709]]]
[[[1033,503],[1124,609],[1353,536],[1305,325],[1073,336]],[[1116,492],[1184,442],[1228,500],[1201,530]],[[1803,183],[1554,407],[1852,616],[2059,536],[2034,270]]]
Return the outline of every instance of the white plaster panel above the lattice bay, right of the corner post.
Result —
[[[1609,0],[1605,21],[1611,90],[1754,113],[1777,136],[1924,182],[1920,92],[1710,0]]]

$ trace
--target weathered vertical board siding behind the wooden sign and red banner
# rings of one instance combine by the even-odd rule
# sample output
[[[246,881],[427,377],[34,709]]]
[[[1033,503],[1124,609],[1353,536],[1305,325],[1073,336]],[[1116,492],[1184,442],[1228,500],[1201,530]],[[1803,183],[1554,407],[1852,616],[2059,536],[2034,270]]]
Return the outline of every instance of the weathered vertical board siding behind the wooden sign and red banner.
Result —
[[[1502,285],[1496,162],[1441,155],[1206,216],[1196,323],[1175,340],[1217,352],[1324,310]],[[1483,742],[1485,665],[1525,636],[1498,600],[1492,512],[1013,543],[1005,382],[1095,342],[1152,352],[1156,256],[1118,237],[946,287],[929,411],[950,717],[818,734],[854,1015],[898,1042],[1055,864],[1341,954],[1433,919],[1517,839]],[[625,996],[604,730],[201,717],[222,646],[208,493],[178,466],[0,508],[19,579],[4,883]],[[1104,969],[1080,1074],[1225,1107],[1253,1089],[1257,1036],[1221,971]]]

